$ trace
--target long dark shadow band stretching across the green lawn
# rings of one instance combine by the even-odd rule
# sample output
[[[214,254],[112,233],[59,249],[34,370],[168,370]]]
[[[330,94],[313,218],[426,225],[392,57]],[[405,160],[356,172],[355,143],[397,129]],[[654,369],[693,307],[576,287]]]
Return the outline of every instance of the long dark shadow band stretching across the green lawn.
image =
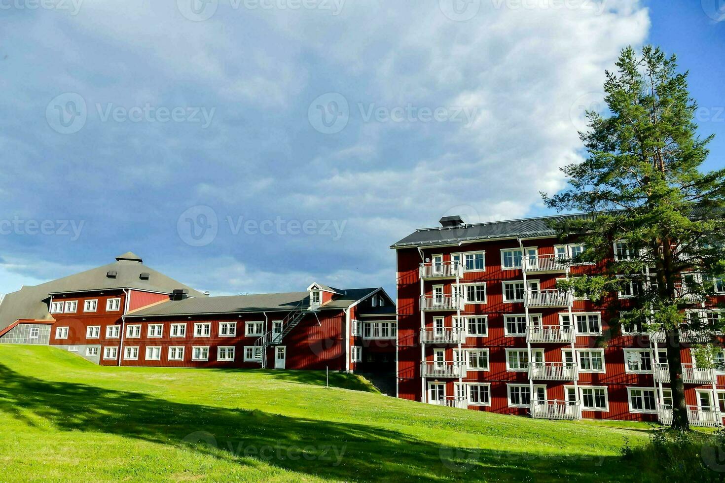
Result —
[[[30,425],[43,418],[59,431],[117,434],[186,447],[240,466],[270,463],[348,481],[624,481],[635,476],[620,458],[547,458],[523,453],[526,448],[476,450],[456,440],[437,445],[365,424],[175,403],[142,393],[49,382],[2,364],[0,411]]]

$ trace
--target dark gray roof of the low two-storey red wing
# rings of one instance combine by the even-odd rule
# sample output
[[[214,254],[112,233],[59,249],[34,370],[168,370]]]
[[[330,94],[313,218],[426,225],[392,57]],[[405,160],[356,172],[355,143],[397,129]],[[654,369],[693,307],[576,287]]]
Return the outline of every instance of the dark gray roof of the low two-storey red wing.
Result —
[[[365,298],[377,288],[354,288],[338,290],[333,300],[320,307],[320,310],[341,310],[348,308]],[[195,314],[236,314],[243,312],[286,311],[310,305],[309,292],[261,293],[257,295],[229,295],[225,297],[186,298],[183,301],[168,301],[155,306],[141,308],[127,314],[127,317],[175,316]]]

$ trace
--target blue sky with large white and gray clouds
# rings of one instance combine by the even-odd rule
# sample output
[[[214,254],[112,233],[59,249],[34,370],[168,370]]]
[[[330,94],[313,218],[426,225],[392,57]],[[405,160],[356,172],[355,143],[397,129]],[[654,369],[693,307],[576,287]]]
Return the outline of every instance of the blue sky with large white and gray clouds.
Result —
[[[415,228],[547,212],[629,44],[679,55],[723,165],[721,0],[205,1],[0,3],[0,293],[130,250],[394,295]]]

